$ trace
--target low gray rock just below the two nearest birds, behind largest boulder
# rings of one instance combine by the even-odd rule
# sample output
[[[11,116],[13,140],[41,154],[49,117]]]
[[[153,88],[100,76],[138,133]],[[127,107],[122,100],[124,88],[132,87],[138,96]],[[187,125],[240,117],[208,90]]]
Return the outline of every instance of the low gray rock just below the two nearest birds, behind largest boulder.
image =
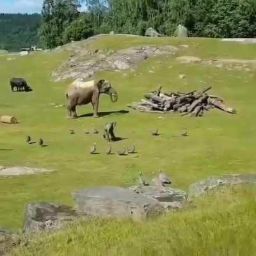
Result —
[[[180,189],[163,186],[132,186],[130,189],[137,194],[156,199],[164,209],[180,209],[184,206],[187,193]]]

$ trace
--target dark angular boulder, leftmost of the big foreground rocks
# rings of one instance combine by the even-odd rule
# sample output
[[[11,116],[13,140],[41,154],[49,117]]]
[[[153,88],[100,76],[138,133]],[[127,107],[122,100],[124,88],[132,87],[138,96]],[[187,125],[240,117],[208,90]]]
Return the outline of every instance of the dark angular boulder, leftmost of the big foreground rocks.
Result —
[[[39,232],[63,227],[77,218],[77,212],[70,206],[53,203],[28,204],[23,230]]]

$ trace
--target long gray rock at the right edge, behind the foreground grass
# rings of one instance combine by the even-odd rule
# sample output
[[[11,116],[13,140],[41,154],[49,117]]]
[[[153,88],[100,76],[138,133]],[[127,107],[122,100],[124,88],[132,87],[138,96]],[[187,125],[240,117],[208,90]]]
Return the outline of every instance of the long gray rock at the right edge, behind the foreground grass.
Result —
[[[207,191],[232,184],[256,183],[256,173],[211,176],[189,186],[189,198],[205,195]]]

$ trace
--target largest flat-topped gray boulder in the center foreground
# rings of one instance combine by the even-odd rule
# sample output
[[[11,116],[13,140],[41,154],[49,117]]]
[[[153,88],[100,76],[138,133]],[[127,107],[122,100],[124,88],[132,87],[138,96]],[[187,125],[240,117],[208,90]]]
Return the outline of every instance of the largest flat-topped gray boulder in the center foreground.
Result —
[[[86,216],[139,221],[164,212],[156,199],[114,186],[81,189],[73,196],[78,211]]]

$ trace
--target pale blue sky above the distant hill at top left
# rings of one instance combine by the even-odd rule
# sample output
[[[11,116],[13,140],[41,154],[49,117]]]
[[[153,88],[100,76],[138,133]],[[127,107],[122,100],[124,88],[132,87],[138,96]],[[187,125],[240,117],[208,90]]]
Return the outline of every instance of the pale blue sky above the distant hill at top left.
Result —
[[[0,13],[40,13],[43,0],[0,0]]]

